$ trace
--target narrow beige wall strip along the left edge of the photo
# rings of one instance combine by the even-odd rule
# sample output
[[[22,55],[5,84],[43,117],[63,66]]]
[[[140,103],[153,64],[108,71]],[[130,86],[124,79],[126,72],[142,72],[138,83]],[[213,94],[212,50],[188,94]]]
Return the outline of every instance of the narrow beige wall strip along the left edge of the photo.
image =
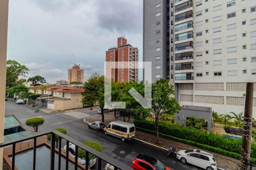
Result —
[[[7,55],[8,0],[0,1],[0,143],[3,142],[5,120],[5,82]],[[0,148],[0,158],[3,158],[3,148]],[[0,159],[2,169],[2,159]]]

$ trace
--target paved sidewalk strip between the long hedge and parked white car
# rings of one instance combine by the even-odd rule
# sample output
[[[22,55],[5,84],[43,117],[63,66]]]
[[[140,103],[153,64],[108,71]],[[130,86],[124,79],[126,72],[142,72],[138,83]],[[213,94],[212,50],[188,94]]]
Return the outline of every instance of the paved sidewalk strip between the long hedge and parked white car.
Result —
[[[166,139],[166,138],[162,138],[162,137],[159,137],[159,143],[157,143],[156,135],[144,133],[139,130],[136,130],[136,138],[141,139],[142,141],[145,141],[148,143],[152,143],[156,146],[167,148],[167,149],[170,146],[175,146],[176,152],[178,152],[179,150],[191,150],[191,149],[203,150],[201,148],[190,146],[190,145],[187,145],[187,144],[184,144],[181,142],[177,142],[177,141],[172,141],[171,139]],[[207,150],[204,150],[204,151],[207,151]],[[228,156],[224,156],[221,154],[216,154],[214,152],[210,152],[210,151],[207,151],[207,152],[214,155],[218,167],[224,168],[227,170],[237,169],[237,164],[240,162],[239,160],[230,158]]]

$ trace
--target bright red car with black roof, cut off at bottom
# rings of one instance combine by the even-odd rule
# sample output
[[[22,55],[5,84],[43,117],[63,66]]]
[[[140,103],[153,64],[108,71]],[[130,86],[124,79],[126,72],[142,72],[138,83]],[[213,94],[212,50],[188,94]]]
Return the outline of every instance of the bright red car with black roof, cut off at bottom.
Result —
[[[131,168],[137,170],[170,170],[170,168],[166,167],[166,165],[164,165],[159,160],[144,154],[139,154],[133,159]]]

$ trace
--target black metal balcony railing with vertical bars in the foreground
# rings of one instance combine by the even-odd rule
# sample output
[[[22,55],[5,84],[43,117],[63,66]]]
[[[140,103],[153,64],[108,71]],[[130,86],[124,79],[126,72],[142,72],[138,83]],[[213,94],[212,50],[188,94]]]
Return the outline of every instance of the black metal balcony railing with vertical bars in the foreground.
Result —
[[[58,158],[58,169],[61,169],[61,141],[62,139],[65,139],[65,141],[67,141],[67,149],[66,149],[66,155],[65,155],[65,169],[68,169],[68,163],[69,163],[69,143],[73,143],[75,145],[75,170],[77,170],[78,168],[78,148],[81,148],[82,150],[85,150],[85,169],[89,169],[89,154],[92,154],[94,156],[96,156],[96,158],[98,158],[98,169],[101,169],[101,165],[102,162],[106,162],[109,163],[111,165],[113,165],[114,170],[117,169],[132,169],[131,167],[122,164],[120,162],[118,162],[115,159],[110,158],[109,156],[106,156],[105,154],[102,154],[101,152],[98,152],[96,150],[94,150],[93,148],[84,145],[83,143],[76,141],[75,139],[69,137],[68,135],[65,135],[63,133],[60,133],[59,131],[56,130],[52,130],[52,131],[47,131],[44,133],[39,133],[39,134],[35,134],[32,135],[31,137],[25,137],[25,138],[20,138],[20,139],[16,139],[14,141],[11,142],[6,142],[6,143],[0,143],[0,148],[2,147],[6,147],[6,146],[13,146],[13,151],[12,151],[12,163],[11,163],[11,169],[14,170],[15,169],[15,148],[16,148],[16,143],[20,143],[20,142],[24,142],[24,141],[28,141],[33,139],[34,140],[34,147],[33,147],[33,170],[36,169],[36,139],[39,137],[42,137],[44,135],[47,134],[51,134],[51,155],[50,156],[50,169],[53,170],[55,167],[55,136],[58,135],[60,137],[59,139],[59,148],[58,148],[58,153],[59,153],[59,158]]]

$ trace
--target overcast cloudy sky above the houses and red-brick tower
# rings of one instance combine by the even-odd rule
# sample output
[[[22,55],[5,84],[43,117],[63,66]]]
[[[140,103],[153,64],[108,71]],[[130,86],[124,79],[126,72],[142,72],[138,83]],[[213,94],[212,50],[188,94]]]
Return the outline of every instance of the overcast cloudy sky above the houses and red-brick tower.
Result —
[[[11,0],[7,58],[28,77],[67,79],[79,63],[85,78],[104,74],[105,51],[125,35],[142,58],[142,0]],[[141,59],[140,59],[141,60]]]

